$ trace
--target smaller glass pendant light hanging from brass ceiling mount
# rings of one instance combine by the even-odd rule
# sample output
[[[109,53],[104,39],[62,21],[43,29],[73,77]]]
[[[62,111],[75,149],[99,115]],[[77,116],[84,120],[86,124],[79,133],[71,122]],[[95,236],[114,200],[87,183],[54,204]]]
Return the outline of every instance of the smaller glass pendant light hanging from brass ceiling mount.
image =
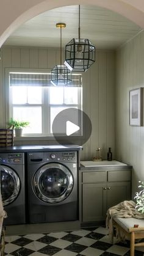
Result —
[[[51,83],[54,86],[68,86],[71,79],[71,71],[62,65],[62,28],[66,27],[65,23],[57,23],[56,27],[60,28],[60,65],[56,65],[51,70]]]

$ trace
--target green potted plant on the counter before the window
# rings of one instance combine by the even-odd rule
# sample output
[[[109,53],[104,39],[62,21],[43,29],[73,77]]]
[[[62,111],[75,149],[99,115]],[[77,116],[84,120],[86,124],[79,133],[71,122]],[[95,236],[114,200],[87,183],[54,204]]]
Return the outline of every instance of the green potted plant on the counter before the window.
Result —
[[[27,127],[29,125],[29,122],[15,120],[11,117],[8,125],[9,125],[9,128],[12,128],[15,130],[15,136],[20,137],[22,136],[23,128]]]

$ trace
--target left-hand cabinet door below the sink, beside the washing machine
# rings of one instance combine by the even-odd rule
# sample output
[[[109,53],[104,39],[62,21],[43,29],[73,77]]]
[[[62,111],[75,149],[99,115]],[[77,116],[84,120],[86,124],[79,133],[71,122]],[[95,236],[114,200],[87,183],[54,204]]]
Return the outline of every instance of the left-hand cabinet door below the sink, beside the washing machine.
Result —
[[[106,214],[107,183],[82,185],[82,221],[101,221]]]

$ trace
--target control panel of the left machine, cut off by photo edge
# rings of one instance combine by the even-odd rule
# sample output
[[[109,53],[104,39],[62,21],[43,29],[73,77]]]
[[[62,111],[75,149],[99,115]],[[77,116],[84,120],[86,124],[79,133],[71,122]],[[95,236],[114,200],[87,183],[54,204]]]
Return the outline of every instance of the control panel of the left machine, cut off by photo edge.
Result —
[[[1,164],[24,164],[24,153],[0,153]]]

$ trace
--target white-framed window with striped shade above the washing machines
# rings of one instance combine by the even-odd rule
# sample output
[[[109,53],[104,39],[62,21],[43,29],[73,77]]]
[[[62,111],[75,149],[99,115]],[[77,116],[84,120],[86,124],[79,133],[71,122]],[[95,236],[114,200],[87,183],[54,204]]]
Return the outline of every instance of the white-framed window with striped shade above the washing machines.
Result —
[[[50,81],[50,73],[9,72],[9,117],[30,122],[24,136],[52,136],[60,111],[82,109],[81,75],[73,75],[70,87],[54,87]]]

